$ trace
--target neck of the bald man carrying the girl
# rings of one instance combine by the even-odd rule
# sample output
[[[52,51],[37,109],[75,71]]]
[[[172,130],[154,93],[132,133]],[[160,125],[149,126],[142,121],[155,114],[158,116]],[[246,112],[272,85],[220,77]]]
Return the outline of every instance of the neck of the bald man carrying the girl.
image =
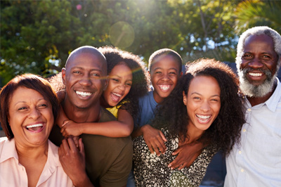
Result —
[[[101,106],[99,102],[91,105],[89,108],[77,108],[65,99],[61,105],[63,106],[65,115],[74,122],[98,122],[100,120]]]

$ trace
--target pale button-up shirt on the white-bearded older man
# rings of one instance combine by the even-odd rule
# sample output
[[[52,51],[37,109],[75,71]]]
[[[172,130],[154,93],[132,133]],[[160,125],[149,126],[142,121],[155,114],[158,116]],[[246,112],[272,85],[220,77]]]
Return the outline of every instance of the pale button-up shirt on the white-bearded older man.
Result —
[[[251,106],[246,99],[247,122],[241,143],[226,158],[225,187],[281,186],[281,84],[265,103]]]

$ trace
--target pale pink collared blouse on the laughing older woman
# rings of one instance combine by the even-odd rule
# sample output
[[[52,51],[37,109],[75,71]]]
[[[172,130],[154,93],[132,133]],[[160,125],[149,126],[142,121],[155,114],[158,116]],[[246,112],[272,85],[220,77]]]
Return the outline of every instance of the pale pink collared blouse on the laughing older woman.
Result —
[[[15,140],[0,138],[0,186],[27,187],[27,172],[18,162]],[[48,158],[37,187],[73,186],[58,159],[58,147],[48,140]]]

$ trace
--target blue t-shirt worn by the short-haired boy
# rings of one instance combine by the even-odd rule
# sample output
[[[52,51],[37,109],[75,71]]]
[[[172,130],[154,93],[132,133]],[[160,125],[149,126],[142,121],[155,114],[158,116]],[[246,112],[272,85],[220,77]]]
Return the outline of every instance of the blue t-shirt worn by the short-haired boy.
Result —
[[[150,121],[155,117],[156,103],[153,97],[153,91],[139,99],[139,112],[135,127],[142,127],[145,124],[150,124]]]

